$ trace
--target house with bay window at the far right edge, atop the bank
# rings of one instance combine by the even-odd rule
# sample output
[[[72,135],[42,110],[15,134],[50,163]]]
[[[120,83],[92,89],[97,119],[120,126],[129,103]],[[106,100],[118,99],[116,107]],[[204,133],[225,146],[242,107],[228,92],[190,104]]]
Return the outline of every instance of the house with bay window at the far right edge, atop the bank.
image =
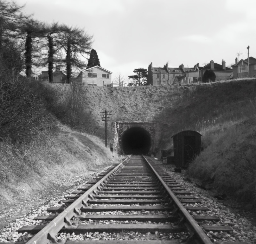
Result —
[[[236,57],[235,62],[236,63],[232,65],[233,78],[248,77],[248,58],[237,61]],[[254,57],[249,57],[249,77],[256,77],[256,58]]]

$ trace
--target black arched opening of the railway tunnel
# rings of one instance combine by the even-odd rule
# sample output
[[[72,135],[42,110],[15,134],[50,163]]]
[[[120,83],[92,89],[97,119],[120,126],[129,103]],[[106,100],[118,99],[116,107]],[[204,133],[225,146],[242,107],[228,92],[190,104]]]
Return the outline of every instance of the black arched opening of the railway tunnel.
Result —
[[[150,134],[141,127],[132,127],[124,132],[122,145],[124,154],[147,155],[151,146]]]

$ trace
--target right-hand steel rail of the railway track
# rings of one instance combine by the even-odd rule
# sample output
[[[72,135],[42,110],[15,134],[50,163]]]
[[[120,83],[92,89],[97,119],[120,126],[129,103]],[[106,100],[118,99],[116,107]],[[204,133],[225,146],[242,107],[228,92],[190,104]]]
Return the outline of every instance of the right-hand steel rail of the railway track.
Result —
[[[149,163],[149,161],[146,159],[145,156],[143,158],[146,160],[146,162],[149,164],[151,169],[156,174],[157,178],[160,180],[162,185],[164,186],[165,190],[168,192],[170,197],[172,198],[175,205],[178,207],[182,215],[187,220],[187,223],[190,225],[190,227],[193,230],[193,234],[196,235],[203,244],[212,244],[212,241],[209,239],[209,237],[204,233],[203,229],[197,224],[196,220],[189,214],[189,212],[185,209],[185,207],[182,205],[182,203],[179,201],[179,199],[175,196],[175,194],[172,192],[172,190],[167,186],[167,184],[164,182],[164,180],[161,178],[161,176],[156,172],[154,167]]]

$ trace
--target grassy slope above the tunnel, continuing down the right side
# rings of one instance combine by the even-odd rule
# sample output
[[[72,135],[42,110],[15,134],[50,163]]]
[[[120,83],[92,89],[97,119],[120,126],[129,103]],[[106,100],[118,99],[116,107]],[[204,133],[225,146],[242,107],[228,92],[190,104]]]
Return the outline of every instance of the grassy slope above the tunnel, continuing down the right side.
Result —
[[[190,174],[215,179],[214,185],[223,191],[255,200],[255,79],[185,87],[82,89],[83,106],[101,127],[104,109],[112,110],[113,121],[156,121],[157,156],[160,149],[172,147],[173,134],[185,129],[200,132],[204,151]]]

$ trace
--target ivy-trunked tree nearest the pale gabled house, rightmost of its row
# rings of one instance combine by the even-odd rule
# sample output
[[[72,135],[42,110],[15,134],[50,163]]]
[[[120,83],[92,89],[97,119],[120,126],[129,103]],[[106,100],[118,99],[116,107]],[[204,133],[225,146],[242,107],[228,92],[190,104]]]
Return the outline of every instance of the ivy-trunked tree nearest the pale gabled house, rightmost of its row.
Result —
[[[67,80],[70,82],[72,74],[72,66],[78,69],[84,69],[86,64],[81,60],[81,56],[89,54],[92,45],[92,36],[84,32],[83,29],[68,27],[63,25],[61,27],[61,36],[58,43],[65,50],[66,57],[63,62],[66,64]]]

